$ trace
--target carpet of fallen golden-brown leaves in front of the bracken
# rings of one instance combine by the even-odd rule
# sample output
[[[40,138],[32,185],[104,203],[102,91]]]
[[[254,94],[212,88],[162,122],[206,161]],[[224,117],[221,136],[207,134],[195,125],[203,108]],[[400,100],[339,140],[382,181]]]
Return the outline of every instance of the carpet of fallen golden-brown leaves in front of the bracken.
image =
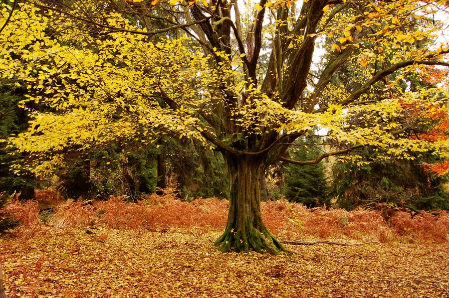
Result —
[[[7,297],[447,297],[449,245],[221,253],[217,231],[41,226],[0,240]],[[346,241],[346,240],[344,240]]]

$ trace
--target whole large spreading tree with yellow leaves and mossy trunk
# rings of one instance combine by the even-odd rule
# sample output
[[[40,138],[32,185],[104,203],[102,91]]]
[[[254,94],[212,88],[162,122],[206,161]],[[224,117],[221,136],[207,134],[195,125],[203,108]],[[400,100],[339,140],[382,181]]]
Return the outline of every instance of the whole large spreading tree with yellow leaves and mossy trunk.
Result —
[[[448,64],[437,40],[446,1],[109,0],[19,5],[1,32],[2,77],[26,81],[33,120],[11,139],[49,172],[68,150],[117,139],[194,138],[223,153],[230,175],[222,251],[284,250],[260,214],[261,183],[278,161],[313,164],[371,145],[409,158],[447,155],[447,142],[412,139],[415,107],[444,107],[440,88],[399,92],[401,76]],[[2,10],[3,21],[11,7]],[[157,25],[155,25],[157,23]],[[151,24],[151,25],[147,25]],[[334,42],[321,47],[321,41]],[[315,50],[321,56],[312,68]],[[354,84],[333,76],[348,60]],[[393,76],[391,76],[394,74]],[[392,79],[394,78],[394,79]],[[32,110],[46,103],[51,112]],[[298,138],[336,149],[289,160]],[[350,155],[357,156],[357,155]],[[23,165],[20,165],[23,167]],[[21,170],[15,165],[15,170]]]

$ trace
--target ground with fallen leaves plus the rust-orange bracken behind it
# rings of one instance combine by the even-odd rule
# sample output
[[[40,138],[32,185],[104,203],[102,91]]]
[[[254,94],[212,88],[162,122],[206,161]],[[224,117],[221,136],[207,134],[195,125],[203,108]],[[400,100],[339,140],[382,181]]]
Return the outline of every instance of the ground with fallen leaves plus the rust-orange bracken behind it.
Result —
[[[380,205],[351,212],[262,202],[293,254],[221,253],[228,203],[173,195],[73,202],[42,192],[12,201],[0,235],[7,297],[449,297],[449,212]],[[39,212],[48,206],[52,212]]]

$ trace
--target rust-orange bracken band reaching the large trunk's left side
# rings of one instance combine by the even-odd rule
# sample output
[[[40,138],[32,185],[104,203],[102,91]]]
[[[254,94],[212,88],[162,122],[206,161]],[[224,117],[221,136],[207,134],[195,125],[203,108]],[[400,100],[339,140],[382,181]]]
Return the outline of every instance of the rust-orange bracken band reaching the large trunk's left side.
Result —
[[[69,202],[60,206],[49,220],[56,227],[105,224],[114,229],[152,231],[176,227],[204,227],[221,229],[227,218],[227,202],[217,198],[197,199],[193,203],[174,197],[150,195],[138,203],[127,203],[111,196],[93,205]]]

